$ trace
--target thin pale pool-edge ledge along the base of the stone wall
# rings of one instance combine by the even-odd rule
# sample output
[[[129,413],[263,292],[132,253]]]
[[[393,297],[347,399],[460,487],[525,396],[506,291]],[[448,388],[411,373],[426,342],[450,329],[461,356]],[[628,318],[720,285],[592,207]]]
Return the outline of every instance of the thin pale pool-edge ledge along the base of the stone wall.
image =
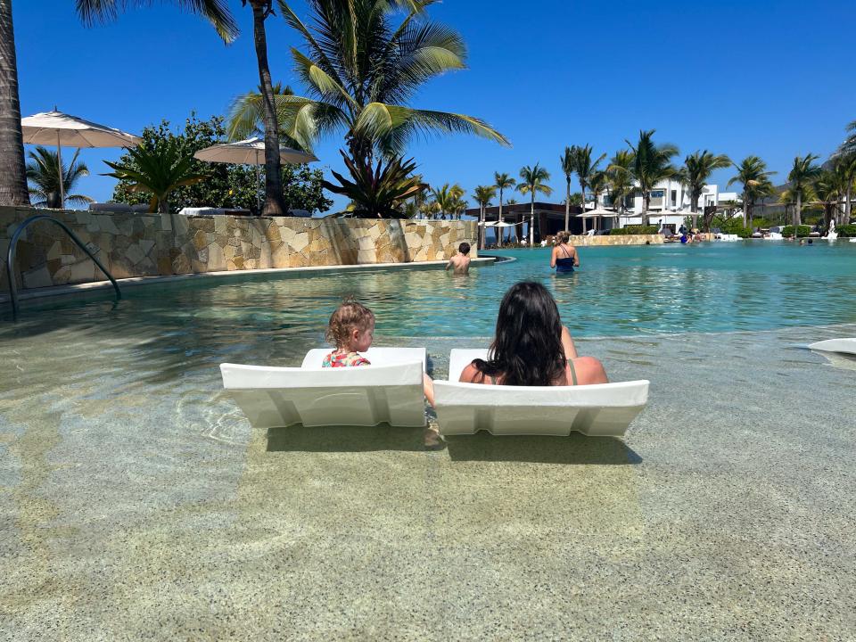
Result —
[[[474,266],[485,266],[494,263],[496,257],[482,257],[471,259],[470,264]],[[281,275],[298,276],[305,274],[330,274],[336,272],[354,271],[377,271],[377,270],[402,270],[402,269],[440,269],[445,268],[449,261],[410,261],[407,263],[368,263],[364,265],[345,266],[317,266],[311,268],[262,268],[253,270],[224,270],[221,272],[199,272],[193,274],[167,275],[167,276],[130,276],[128,278],[116,279],[120,288],[136,285],[166,284],[177,281],[189,281],[211,278],[226,278],[236,280],[251,280],[254,276]],[[80,292],[93,292],[96,290],[111,290],[110,281],[90,281],[83,284],[53,285],[51,287],[32,288],[18,292],[19,300],[42,299],[45,297],[65,296]],[[9,301],[7,294],[0,293],[0,302]]]

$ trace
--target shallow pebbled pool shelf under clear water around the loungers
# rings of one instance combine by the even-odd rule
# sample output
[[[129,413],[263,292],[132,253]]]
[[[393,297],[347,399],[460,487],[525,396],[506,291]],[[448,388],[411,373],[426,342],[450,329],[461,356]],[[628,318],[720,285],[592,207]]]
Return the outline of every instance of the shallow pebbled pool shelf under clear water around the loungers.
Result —
[[[802,347],[847,335],[580,340],[652,382],[625,440],[429,450],[251,431],[205,342],[21,332],[0,342],[0,638],[852,638],[856,361]],[[434,376],[487,342],[384,340],[426,345]]]

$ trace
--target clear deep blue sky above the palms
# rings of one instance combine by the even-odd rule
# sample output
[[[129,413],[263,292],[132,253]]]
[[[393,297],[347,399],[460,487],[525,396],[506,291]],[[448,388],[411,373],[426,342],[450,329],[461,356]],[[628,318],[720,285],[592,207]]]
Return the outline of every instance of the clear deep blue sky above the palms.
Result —
[[[243,34],[226,47],[207,22],[169,3],[86,29],[72,0],[15,0],[23,115],[56,104],[138,132],[191,111],[224,113],[259,82],[251,12],[230,4]],[[302,2],[294,6],[305,15]],[[410,146],[430,183],[458,182],[469,194],[495,170],[516,176],[540,161],[559,202],[565,145],[612,154],[640,128],[677,144],[681,159],[697,149],[735,160],[757,154],[780,178],[796,154],[825,158],[856,119],[852,0],[446,0],[431,13],[463,33],[469,69],[425,86],[413,105],[481,117],[513,144],[449,136]],[[289,53],[300,40],[278,16],[268,19],[268,45],[275,80],[300,93]],[[319,144],[320,166],[341,168],[341,146],[342,136]],[[83,152],[93,176],[79,191],[107,200],[113,179],[97,174],[118,154]],[[731,175],[720,171],[714,181]]]

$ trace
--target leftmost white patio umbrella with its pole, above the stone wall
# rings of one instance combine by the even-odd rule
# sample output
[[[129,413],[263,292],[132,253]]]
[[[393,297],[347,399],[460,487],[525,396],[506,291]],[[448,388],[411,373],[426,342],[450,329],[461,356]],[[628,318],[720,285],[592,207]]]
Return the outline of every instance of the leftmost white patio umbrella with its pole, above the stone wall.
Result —
[[[62,111],[44,111],[21,119],[24,143],[56,145],[60,166],[60,206],[65,205],[62,185],[62,145],[66,147],[134,147],[141,138],[106,125],[70,116]]]

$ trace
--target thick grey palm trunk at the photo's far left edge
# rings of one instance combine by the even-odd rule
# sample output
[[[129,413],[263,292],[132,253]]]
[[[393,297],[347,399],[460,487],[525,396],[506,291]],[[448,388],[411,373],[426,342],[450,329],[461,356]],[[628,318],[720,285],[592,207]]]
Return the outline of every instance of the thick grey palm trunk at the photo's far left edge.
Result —
[[[0,205],[29,205],[12,0],[0,0]]]

